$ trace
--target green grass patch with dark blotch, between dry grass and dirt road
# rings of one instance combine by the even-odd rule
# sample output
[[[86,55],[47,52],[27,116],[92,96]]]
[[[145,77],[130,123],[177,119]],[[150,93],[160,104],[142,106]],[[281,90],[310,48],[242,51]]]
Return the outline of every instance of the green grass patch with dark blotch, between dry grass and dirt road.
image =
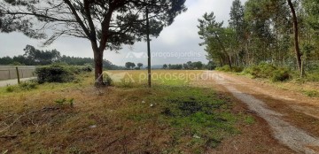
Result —
[[[164,89],[159,89],[164,90]],[[174,127],[173,144],[183,144],[191,152],[217,147],[224,137],[237,134],[234,127],[237,118],[230,112],[231,103],[220,100],[211,89],[169,87],[160,98],[151,96],[150,102],[158,102],[161,119]],[[171,152],[182,149],[173,148]]]

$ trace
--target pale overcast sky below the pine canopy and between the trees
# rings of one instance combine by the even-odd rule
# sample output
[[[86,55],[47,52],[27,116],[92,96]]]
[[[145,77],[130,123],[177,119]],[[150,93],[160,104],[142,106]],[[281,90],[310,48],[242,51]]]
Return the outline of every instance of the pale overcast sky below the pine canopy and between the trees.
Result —
[[[233,0],[186,0],[187,12],[177,16],[170,27],[165,27],[158,38],[152,38],[152,65],[182,64],[187,61],[206,60],[204,47],[198,45],[198,18],[205,12],[214,12],[217,21],[230,19],[230,6]],[[246,0],[242,0],[244,3]],[[0,57],[16,56],[24,53],[27,44],[40,50],[57,49],[62,55],[74,57],[93,57],[88,40],[74,37],[61,37],[50,46],[41,48],[39,40],[32,40],[18,33],[0,34]],[[119,53],[105,50],[104,58],[115,65],[126,62],[147,64],[146,43],[136,42],[135,45],[120,50]]]

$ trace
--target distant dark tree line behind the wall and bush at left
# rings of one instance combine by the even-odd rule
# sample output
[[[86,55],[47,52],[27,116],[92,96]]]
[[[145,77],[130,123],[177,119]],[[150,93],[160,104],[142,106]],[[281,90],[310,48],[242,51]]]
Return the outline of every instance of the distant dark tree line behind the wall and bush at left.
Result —
[[[24,54],[14,57],[0,58],[0,65],[51,65],[53,63],[66,63],[68,65],[93,65],[93,58],[75,58],[62,55],[58,50],[38,50],[32,45],[27,45]],[[109,70],[122,69],[104,59],[103,67]]]

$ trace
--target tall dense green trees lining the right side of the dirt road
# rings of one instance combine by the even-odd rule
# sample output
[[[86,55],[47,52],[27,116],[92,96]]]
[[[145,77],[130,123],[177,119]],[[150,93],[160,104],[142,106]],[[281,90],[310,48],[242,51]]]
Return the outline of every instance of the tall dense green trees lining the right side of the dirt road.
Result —
[[[233,1],[229,25],[214,12],[198,19],[198,35],[207,58],[217,65],[249,66],[261,62],[299,70],[319,61],[319,1]]]

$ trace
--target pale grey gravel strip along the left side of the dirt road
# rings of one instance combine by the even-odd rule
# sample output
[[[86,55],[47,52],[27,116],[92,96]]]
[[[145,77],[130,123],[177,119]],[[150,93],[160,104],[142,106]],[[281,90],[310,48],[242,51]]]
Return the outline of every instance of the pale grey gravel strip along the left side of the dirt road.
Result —
[[[299,153],[319,153],[319,151],[315,151],[315,148],[319,147],[319,139],[317,137],[308,135],[307,132],[300,128],[292,126],[281,118],[283,116],[282,114],[270,110],[263,101],[235,88],[236,84],[245,85],[245,83],[230,81],[228,80],[229,77],[222,73],[206,73],[218,82],[218,84],[228,89],[233,96],[247,104],[250,110],[265,119],[279,142],[284,143],[284,145]]]

